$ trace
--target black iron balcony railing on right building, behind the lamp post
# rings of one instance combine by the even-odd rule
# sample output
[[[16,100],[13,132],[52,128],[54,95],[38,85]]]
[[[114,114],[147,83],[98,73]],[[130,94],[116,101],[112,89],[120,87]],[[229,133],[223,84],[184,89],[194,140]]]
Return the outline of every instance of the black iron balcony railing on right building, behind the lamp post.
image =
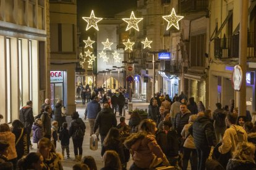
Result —
[[[247,57],[256,57],[256,44],[254,32],[247,35]],[[233,34],[229,38],[215,38],[214,55],[218,59],[231,59],[239,57],[239,34]]]

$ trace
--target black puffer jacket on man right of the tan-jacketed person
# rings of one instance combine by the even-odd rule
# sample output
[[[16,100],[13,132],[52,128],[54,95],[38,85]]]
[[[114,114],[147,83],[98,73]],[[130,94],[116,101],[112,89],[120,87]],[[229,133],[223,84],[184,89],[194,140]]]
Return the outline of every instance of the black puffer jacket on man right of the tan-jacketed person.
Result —
[[[215,129],[210,118],[198,117],[189,127],[190,134],[194,137],[195,147],[210,147],[216,145]]]

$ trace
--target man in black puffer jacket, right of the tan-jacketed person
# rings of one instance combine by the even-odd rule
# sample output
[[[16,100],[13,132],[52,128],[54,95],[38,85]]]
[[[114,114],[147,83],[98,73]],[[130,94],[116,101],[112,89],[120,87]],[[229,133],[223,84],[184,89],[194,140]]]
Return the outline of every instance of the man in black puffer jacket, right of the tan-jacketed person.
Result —
[[[190,134],[194,137],[194,144],[197,148],[198,170],[205,170],[211,146],[216,145],[215,130],[211,118],[211,111],[206,110],[203,116],[198,116],[192,126],[189,127]]]

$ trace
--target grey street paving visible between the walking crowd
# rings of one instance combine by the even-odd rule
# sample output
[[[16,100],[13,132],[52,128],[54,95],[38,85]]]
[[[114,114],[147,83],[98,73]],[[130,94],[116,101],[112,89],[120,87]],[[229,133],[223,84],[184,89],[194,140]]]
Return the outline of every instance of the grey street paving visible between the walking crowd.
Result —
[[[142,102],[142,100],[136,100],[136,99],[133,99],[132,103],[133,103],[133,108],[134,109],[135,108],[140,108],[140,109],[142,108],[144,110],[145,110],[145,108],[148,108],[148,104],[149,104],[149,103],[146,103],[146,102]],[[81,100],[77,100],[77,111],[79,112],[80,118],[82,118],[83,120],[84,120],[85,106],[86,105],[82,105]],[[127,113],[127,110],[126,110],[126,113]],[[128,124],[128,121],[129,121],[129,116],[130,115],[126,114],[126,123],[127,124]],[[67,116],[68,124],[70,123],[70,121],[71,121],[70,116]],[[119,123],[119,116],[117,116],[117,124],[118,123]],[[101,169],[104,166],[103,160],[102,160],[101,155],[100,155],[100,151],[101,151],[100,143],[101,142],[100,141],[98,142],[98,150],[96,150],[96,151],[90,150],[90,147],[89,147],[89,144],[90,144],[89,143],[89,139],[90,139],[90,130],[89,129],[90,129],[90,127],[89,127],[89,124],[88,124],[87,120],[85,121],[85,125],[86,125],[87,129],[85,131],[85,136],[84,136],[84,139],[83,139],[83,156],[85,156],[85,155],[93,156],[93,158],[95,158],[97,168]],[[69,148],[70,148],[70,157],[72,159],[74,159],[74,150],[73,150],[72,139],[70,139]],[[32,151],[36,152],[36,144],[33,144]],[[57,143],[56,151],[61,153],[61,144],[60,143]],[[66,158],[66,155],[65,155],[65,158]],[[62,161],[62,165],[63,165],[64,169],[72,169],[72,166],[75,163],[77,163],[75,161],[72,161],[72,159],[71,160],[64,159]],[[127,167],[130,167],[130,164],[132,164],[132,160],[129,161],[129,163],[127,164]]]

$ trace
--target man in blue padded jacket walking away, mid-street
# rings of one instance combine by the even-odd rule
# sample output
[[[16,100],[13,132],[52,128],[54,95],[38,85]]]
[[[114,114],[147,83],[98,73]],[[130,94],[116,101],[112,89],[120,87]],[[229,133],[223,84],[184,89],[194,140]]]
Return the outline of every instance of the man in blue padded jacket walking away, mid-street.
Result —
[[[90,136],[92,136],[93,134],[95,119],[100,111],[101,107],[99,103],[99,98],[98,96],[95,96],[94,99],[87,104],[87,108],[85,110],[85,119],[88,118],[88,122],[90,125]],[[96,132],[96,135],[99,135],[98,132]]]

